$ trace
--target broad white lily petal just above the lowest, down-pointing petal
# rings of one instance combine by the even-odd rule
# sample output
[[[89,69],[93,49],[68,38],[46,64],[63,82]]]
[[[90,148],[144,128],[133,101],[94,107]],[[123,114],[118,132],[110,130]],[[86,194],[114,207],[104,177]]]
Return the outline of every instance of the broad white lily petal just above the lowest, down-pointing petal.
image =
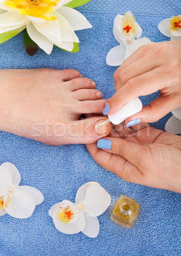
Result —
[[[57,19],[46,20],[42,23],[33,24],[37,31],[44,35],[46,38],[48,38],[50,41],[58,41],[61,43],[61,27]]]

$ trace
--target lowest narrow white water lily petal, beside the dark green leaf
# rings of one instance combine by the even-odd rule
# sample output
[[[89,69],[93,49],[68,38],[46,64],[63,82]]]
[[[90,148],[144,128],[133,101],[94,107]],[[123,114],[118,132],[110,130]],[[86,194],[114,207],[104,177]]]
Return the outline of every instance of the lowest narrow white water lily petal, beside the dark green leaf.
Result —
[[[29,37],[47,54],[51,54],[54,44],[35,29],[33,24],[30,22],[26,26]]]

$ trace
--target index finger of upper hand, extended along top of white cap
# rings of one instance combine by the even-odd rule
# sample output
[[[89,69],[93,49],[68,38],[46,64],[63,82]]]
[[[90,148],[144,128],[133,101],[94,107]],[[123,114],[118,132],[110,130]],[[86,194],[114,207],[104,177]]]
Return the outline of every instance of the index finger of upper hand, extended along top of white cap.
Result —
[[[124,104],[136,97],[155,93],[164,87],[173,86],[173,78],[164,70],[158,67],[140,76],[130,79],[120,88],[109,101],[109,114],[116,113]]]

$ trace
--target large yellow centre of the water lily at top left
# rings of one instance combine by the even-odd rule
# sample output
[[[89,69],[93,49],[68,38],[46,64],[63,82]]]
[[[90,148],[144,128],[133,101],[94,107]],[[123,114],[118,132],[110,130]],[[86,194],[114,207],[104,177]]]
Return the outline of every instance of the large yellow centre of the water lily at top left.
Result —
[[[18,9],[20,14],[42,18],[44,20],[56,20],[50,13],[60,0],[6,0],[3,3],[12,9]]]

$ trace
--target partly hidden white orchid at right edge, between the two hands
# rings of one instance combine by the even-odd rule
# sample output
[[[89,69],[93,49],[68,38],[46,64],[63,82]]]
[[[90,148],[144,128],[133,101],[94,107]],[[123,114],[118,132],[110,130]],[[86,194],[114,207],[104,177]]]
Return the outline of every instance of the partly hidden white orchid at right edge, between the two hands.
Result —
[[[181,134],[181,107],[172,111],[173,116],[168,119],[165,131],[173,134]]]

